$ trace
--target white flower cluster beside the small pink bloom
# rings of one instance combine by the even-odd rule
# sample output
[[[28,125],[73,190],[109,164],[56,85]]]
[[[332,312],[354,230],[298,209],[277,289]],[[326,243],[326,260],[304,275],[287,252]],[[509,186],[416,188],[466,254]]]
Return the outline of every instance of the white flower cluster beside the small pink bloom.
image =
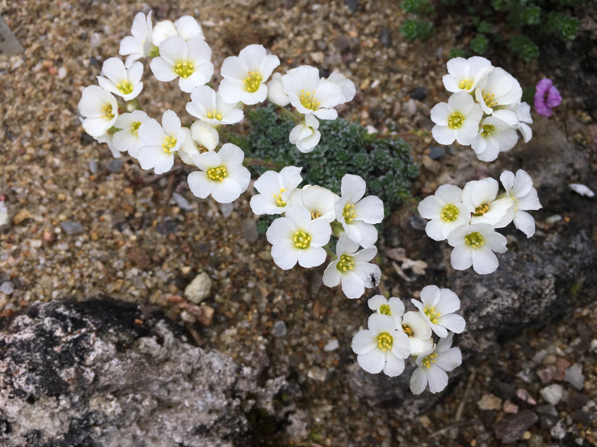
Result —
[[[454,140],[470,145],[479,160],[493,162],[500,152],[533,136],[531,107],[521,102],[522,88],[510,73],[480,56],[448,61],[444,86],[453,95],[431,109],[433,138],[439,144]]]

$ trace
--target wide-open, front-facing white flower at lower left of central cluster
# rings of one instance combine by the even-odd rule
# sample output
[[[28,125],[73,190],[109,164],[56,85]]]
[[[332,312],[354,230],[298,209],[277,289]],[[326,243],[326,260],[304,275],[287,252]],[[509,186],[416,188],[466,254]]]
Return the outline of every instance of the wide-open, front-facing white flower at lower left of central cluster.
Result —
[[[302,206],[289,206],[285,217],[272,222],[266,232],[272,244],[273,262],[282,270],[315,267],[325,261],[322,247],[330,241],[331,227],[324,221],[312,221],[311,213]]]

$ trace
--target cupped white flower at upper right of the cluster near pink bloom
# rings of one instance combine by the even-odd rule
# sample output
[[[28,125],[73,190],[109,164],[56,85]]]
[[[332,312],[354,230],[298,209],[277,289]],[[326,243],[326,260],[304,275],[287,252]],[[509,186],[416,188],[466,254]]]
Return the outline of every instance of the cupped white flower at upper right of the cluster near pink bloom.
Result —
[[[488,115],[493,113],[494,107],[518,103],[521,97],[518,80],[500,67],[491,70],[475,88],[475,98]]]

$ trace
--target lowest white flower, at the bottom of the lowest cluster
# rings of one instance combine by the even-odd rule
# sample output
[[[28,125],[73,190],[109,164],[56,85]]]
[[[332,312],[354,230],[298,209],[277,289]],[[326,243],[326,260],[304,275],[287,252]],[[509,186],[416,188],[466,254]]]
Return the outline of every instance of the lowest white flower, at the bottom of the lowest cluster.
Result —
[[[414,370],[410,381],[410,389],[413,394],[421,394],[427,384],[429,384],[429,391],[433,394],[439,393],[448,385],[448,374],[445,371],[452,371],[462,364],[460,349],[450,347],[453,337],[454,334],[449,334],[440,339],[435,347],[417,357],[418,368]]]

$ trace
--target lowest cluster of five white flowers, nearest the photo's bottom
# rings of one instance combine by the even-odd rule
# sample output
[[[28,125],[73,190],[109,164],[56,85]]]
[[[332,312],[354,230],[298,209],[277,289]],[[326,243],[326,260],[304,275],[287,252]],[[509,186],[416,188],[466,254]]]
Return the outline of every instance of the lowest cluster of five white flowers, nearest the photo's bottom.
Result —
[[[427,285],[420,297],[421,301],[411,299],[417,311],[406,313],[398,297],[376,295],[368,300],[376,312],[369,317],[368,329],[352,339],[352,350],[365,371],[383,371],[390,377],[402,374],[404,359],[412,356],[418,368],[410,380],[411,391],[420,394],[429,384],[429,391],[438,393],[448,384],[446,371],[462,363],[460,349],[451,345],[454,334],[460,334],[466,323],[454,313],[460,309],[460,300],[450,289]]]

